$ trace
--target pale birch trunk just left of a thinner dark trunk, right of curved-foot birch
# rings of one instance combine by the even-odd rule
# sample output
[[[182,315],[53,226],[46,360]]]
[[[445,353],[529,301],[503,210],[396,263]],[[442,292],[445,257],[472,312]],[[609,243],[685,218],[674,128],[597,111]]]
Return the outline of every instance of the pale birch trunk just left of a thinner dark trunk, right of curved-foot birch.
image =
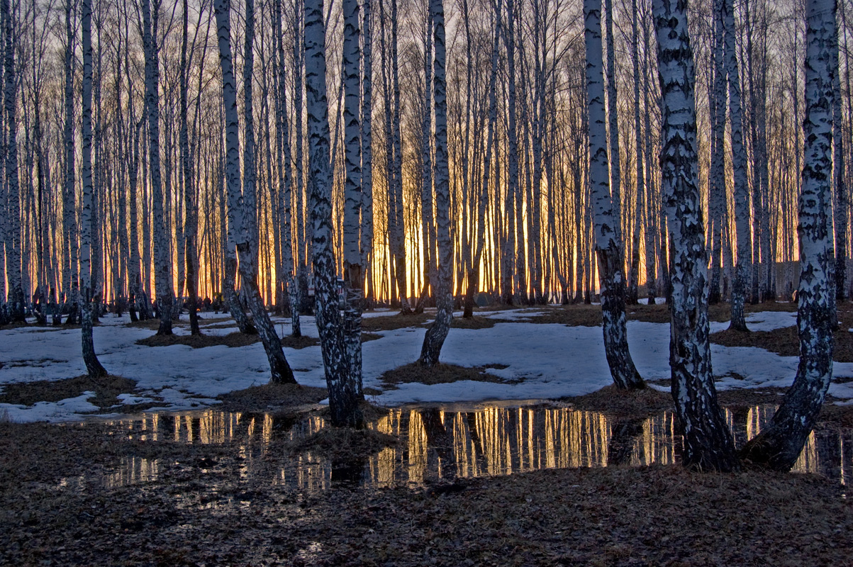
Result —
[[[160,182],[160,49],[157,46],[157,24],[160,0],[142,0],[142,42],[145,47],[145,100],[148,106],[148,167],[151,174],[152,208],[154,210],[154,288],[160,310],[157,334],[171,335],[171,255],[169,235],[165,227],[163,186]]]

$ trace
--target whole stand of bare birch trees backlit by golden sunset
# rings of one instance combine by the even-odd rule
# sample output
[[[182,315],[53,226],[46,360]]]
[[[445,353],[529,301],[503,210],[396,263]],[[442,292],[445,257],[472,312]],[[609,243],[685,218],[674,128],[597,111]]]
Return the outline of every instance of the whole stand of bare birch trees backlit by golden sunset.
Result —
[[[622,388],[668,310],[686,460],[728,470],[707,305],[798,301],[783,468],[851,291],[853,6],[815,1],[7,0],[0,324],[80,325],[96,376],[107,311],[228,312],[293,383],[316,323],[360,425],[368,310],[432,321],[400,356],[434,367],[486,310],[601,303]]]

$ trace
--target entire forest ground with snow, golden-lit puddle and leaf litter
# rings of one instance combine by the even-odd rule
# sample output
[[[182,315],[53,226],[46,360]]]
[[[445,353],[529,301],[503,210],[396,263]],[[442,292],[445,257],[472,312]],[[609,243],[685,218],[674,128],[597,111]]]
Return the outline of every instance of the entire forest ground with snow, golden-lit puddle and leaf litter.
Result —
[[[728,305],[710,310],[719,399],[734,420],[753,419],[747,416],[759,407],[772,414],[798,354],[794,304],[746,310],[751,333],[726,330]],[[365,431],[322,426],[328,408],[320,403],[326,392],[310,318],[305,337],[281,333],[302,386],[258,385],[257,338],[235,336],[231,321],[212,316],[203,338],[189,336],[181,321],[176,336],[163,339],[150,321],[128,325],[107,315],[96,349],[116,375],[100,380],[79,376],[77,329],[0,330],[7,345],[0,349],[0,564],[850,564],[853,307],[839,306],[836,377],[817,427],[836,444],[815,442],[809,456],[828,462],[831,474],[683,470],[677,448],[661,452],[655,437],[661,424],[672,426],[667,307],[630,306],[628,316],[632,354],[653,386],[632,394],[606,385],[597,305],[457,316],[443,363],[431,373],[412,363],[430,312],[368,313],[368,399],[420,405],[390,415],[365,405],[370,423],[397,423]],[[276,325],[287,329],[284,319]],[[165,371],[154,372],[152,361]],[[494,441],[494,450],[474,450],[478,459],[502,462],[507,440],[523,429],[513,421],[522,413],[514,400],[550,398],[535,410],[545,417],[529,421],[530,434],[577,421],[593,437],[572,437],[572,429],[555,443],[569,453],[597,444],[607,466],[456,474],[467,457],[454,457],[459,446],[443,447],[441,436],[459,435],[464,419],[444,408],[490,398],[504,402],[459,414],[479,424],[471,425],[469,444],[494,422],[483,431],[496,437],[479,441]],[[85,414],[107,415],[66,425],[14,422]],[[426,437],[415,435],[424,430]],[[635,452],[645,444],[640,462],[652,464],[614,464],[624,454],[617,431],[628,431]],[[661,458],[667,451],[675,460]],[[420,465],[416,452],[425,455]],[[396,476],[375,482],[389,462]],[[374,482],[353,480],[368,476]]]

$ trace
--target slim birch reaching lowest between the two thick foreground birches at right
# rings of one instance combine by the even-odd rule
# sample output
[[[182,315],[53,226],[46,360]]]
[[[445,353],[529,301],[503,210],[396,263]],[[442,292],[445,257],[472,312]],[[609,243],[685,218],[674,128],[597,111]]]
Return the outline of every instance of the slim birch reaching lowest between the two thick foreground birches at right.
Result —
[[[729,115],[732,121],[732,171],[734,171],[734,224],[737,229],[738,259],[732,284],[732,318],[728,328],[749,331],[744,319],[746,283],[750,274],[751,236],[749,228],[749,188],[746,186],[746,150],[743,145],[743,113],[740,108],[740,71],[734,47],[734,8],[724,0],[723,26],[726,36]]]

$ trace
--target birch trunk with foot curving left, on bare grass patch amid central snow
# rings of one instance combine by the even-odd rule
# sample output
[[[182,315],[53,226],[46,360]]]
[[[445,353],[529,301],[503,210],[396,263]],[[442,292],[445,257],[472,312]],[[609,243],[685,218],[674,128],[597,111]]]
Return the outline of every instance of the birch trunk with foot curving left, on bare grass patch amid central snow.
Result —
[[[438,282],[436,285],[435,321],[427,329],[421,347],[421,365],[438,364],[444,339],[453,320],[453,295],[450,290],[453,246],[450,237],[450,164],[447,157],[447,85],[445,83],[444,3],[430,0],[432,42],[435,45],[433,62],[433,101],[435,101],[435,200],[438,224]]]

